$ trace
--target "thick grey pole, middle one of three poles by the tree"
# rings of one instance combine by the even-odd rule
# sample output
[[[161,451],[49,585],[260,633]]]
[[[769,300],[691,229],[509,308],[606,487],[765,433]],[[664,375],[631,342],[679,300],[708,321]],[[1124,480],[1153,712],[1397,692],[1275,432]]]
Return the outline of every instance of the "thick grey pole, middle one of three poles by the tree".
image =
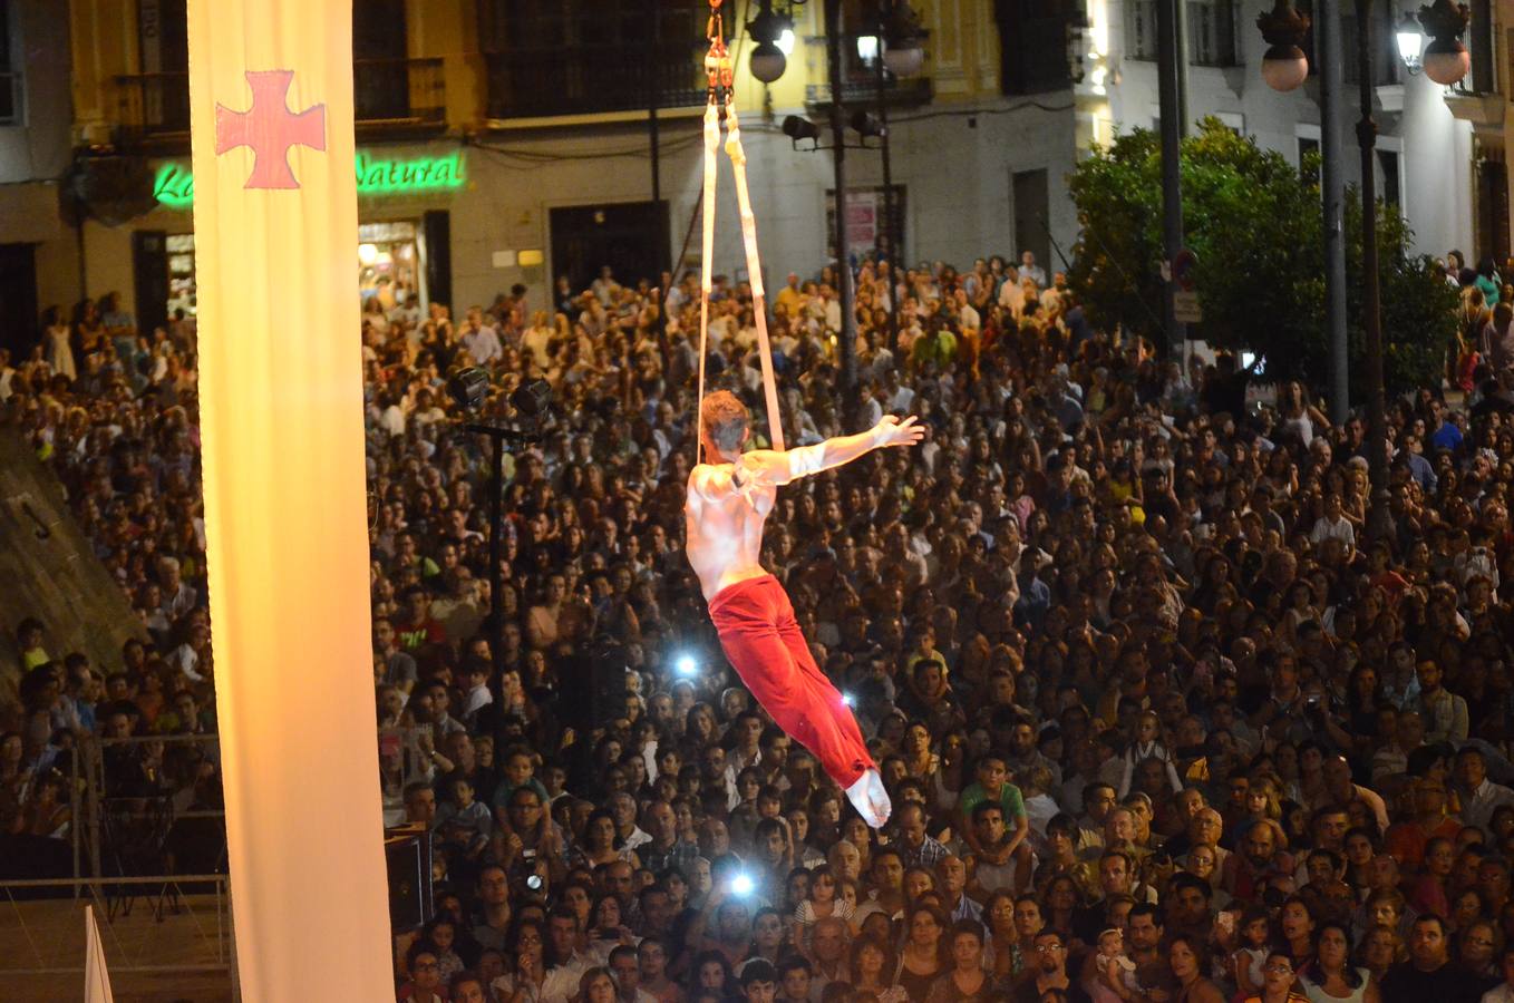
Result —
[[[1314,0],[1320,74],[1320,195],[1325,212],[1325,334],[1329,343],[1329,421],[1344,425],[1350,413],[1350,360],[1346,351],[1346,169],[1341,159],[1340,8]]]

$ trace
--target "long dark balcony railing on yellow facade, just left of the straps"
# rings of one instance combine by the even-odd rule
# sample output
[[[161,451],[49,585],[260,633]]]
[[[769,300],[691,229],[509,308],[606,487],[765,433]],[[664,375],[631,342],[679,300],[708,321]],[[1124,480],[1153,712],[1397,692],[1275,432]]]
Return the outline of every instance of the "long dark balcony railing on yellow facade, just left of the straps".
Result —
[[[621,45],[512,48],[484,53],[489,118],[544,118],[704,104],[695,47],[660,45],[628,54]]]

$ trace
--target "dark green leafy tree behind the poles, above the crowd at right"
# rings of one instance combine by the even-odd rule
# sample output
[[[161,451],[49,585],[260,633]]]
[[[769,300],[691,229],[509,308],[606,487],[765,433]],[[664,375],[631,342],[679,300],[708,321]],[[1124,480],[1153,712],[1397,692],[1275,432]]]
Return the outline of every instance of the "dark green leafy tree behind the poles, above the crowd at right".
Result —
[[[1211,345],[1266,359],[1270,380],[1322,392],[1328,380],[1325,247],[1314,162],[1294,169],[1216,120],[1182,142],[1182,215],[1198,256],[1193,280]],[[1069,180],[1083,233],[1067,278],[1095,324],[1161,340],[1161,150],[1137,129],[1078,165]],[[1455,290],[1410,251],[1413,234],[1378,206],[1384,368],[1388,392],[1437,386],[1455,339]],[[1361,200],[1346,198],[1347,327],[1352,399],[1366,387],[1361,327]]]

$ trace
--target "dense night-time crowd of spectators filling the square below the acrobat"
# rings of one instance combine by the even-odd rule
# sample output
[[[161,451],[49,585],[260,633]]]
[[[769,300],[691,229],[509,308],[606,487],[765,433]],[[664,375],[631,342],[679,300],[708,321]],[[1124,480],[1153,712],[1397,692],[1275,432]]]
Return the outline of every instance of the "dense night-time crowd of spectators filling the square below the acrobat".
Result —
[[[550,309],[363,304],[383,784],[435,837],[400,998],[1514,998],[1500,283],[1467,281],[1469,392],[1391,402],[1373,534],[1363,419],[1297,384],[1096,331],[1031,256],[855,278],[852,424],[927,440],[784,489],[763,563],[881,765],[877,832],[733,685],[680,549],[693,280],[666,324],[609,269]],[[789,443],[842,431],[836,286],[771,297]],[[760,439],[749,289],[712,300],[709,386]],[[498,623],[469,366],[484,418],[554,393],[507,457]],[[0,823],[50,838],[77,732],[213,731],[192,322],[85,304],[0,392],[150,635],[91,666],[8,625]],[[173,747],[114,782],[213,802],[213,746]]]

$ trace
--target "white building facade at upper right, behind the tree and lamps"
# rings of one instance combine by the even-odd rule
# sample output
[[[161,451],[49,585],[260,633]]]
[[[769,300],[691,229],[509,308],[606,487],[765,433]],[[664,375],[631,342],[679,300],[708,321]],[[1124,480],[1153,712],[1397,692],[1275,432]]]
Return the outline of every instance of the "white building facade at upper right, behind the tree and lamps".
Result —
[[[1267,44],[1255,26],[1263,5],[1235,0],[1184,0],[1187,8],[1188,121],[1216,116],[1293,163],[1320,147],[1320,89],[1313,35],[1311,74],[1297,91],[1279,94],[1261,79]],[[1310,3],[1296,3],[1311,12]],[[1378,2],[1370,26],[1373,61],[1375,153],[1379,197],[1396,204],[1414,231],[1416,250],[1444,256],[1459,250],[1470,262],[1509,254],[1508,172],[1503,118],[1509,104],[1505,5],[1472,2],[1467,47],[1472,71],[1443,88],[1410,71],[1396,33],[1413,26],[1416,8]],[[1343,148],[1347,183],[1361,179],[1355,123],[1358,30],[1355,5],[1343,0]],[[1089,0],[1089,67],[1078,85],[1081,145],[1107,141],[1114,130],[1154,129],[1157,100],[1155,0]]]

